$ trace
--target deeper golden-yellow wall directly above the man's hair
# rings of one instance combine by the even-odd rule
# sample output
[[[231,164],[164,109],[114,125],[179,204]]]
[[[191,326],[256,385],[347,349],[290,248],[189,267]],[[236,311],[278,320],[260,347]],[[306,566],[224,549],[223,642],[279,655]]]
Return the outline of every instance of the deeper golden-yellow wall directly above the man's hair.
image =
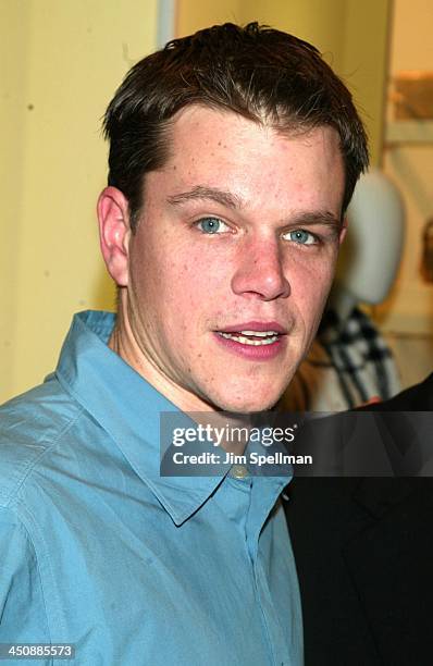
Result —
[[[389,0],[178,0],[177,35],[235,21],[259,21],[311,41],[351,89],[381,155]]]

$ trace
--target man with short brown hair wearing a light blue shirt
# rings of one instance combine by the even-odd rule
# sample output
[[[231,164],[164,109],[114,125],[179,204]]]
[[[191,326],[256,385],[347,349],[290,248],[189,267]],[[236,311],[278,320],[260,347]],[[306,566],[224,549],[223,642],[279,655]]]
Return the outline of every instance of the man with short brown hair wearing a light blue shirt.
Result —
[[[226,24],[137,63],[104,128],[119,311],[76,316],[55,373],[3,409],[0,639],[92,666],[300,665],[287,477],[162,477],[159,423],[277,402],[331,285],[362,125],[313,47]]]

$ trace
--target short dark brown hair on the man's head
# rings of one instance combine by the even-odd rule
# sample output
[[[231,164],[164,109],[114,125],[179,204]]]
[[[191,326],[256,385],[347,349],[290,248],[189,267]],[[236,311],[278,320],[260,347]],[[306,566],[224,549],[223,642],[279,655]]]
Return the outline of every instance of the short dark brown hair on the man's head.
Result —
[[[109,185],[128,199],[133,231],[144,175],[166,161],[171,119],[188,104],[231,110],[283,132],[334,127],[346,173],[343,211],[368,165],[351,95],[313,46],[257,23],[215,25],[140,60],[107,109]]]

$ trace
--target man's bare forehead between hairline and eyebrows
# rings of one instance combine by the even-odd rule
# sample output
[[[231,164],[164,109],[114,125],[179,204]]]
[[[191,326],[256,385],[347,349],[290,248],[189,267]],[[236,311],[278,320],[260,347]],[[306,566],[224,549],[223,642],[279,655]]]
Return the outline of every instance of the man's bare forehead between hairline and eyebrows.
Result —
[[[339,212],[344,166],[332,127],[283,134],[231,111],[191,106],[175,118],[168,140],[168,161],[148,176],[170,195],[214,187],[252,207],[331,203]]]

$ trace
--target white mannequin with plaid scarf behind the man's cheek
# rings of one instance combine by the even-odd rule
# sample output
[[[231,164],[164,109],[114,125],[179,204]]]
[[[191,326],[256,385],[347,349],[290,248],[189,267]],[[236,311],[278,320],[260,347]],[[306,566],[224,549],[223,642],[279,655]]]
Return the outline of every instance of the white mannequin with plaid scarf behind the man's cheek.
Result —
[[[405,236],[405,209],[380,171],[361,176],[347,210],[348,233],[335,285],[309,355],[281,407],[338,411],[400,390],[392,354],[359,304],[382,303],[394,283]]]

